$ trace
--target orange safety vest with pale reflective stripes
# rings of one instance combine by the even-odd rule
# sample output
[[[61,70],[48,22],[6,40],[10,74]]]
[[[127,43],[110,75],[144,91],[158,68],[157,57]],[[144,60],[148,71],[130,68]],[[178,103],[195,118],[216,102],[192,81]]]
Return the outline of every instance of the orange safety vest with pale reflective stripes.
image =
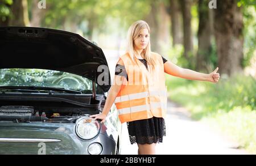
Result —
[[[144,120],[154,117],[165,117],[167,110],[167,87],[164,76],[162,56],[151,53],[156,61],[155,70],[148,64],[135,58],[135,63],[126,53],[122,59],[128,75],[128,82],[123,80],[121,90],[115,98],[115,106],[121,123]]]

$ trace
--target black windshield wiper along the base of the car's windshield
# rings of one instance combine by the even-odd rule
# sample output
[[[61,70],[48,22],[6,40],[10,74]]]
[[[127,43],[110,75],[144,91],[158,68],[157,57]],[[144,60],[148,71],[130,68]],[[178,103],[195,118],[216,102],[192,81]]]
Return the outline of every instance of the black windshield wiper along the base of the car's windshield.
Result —
[[[68,92],[74,94],[82,94],[80,91],[67,90],[65,88],[55,88],[55,87],[40,87],[40,86],[0,86],[0,89],[7,90],[48,90],[48,91],[58,91],[58,92]]]

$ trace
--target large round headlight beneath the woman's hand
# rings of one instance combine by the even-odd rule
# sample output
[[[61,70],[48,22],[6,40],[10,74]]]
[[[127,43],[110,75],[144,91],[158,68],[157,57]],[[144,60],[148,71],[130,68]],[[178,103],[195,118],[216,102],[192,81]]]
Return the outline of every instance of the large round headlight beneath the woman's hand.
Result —
[[[76,134],[81,139],[93,139],[100,133],[98,121],[90,117],[82,117],[76,121]]]

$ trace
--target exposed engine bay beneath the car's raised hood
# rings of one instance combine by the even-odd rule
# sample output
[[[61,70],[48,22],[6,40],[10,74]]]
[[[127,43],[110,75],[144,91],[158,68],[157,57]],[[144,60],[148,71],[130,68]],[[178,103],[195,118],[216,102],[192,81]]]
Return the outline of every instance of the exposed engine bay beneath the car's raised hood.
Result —
[[[81,116],[97,113],[92,108],[53,108],[24,105],[0,106],[0,121],[75,123]]]

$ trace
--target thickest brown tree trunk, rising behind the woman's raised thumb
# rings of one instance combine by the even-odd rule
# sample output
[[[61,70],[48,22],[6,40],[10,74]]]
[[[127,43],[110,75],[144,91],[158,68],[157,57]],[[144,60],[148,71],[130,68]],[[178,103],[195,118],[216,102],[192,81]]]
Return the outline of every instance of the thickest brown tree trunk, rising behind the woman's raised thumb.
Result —
[[[214,10],[218,67],[229,76],[242,71],[243,16],[236,0],[219,1]]]

